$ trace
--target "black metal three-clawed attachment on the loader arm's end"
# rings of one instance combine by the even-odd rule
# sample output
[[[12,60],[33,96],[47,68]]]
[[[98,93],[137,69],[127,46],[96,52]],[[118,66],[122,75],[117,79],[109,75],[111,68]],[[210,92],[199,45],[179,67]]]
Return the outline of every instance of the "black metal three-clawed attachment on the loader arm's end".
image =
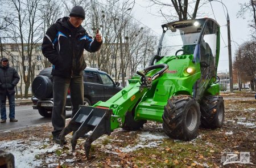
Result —
[[[90,106],[79,106],[79,110],[71,119],[68,126],[60,133],[61,147],[63,147],[65,135],[73,131],[71,139],[72,150],[75,152],[77,139],[79,137],[86,137],[84,149],[86,157],[89,158],[91,144],[98,137],[106,134],[110,135],[110,118],[112,110],[101,109]],[[92,131],[91,133],[88,133]]]

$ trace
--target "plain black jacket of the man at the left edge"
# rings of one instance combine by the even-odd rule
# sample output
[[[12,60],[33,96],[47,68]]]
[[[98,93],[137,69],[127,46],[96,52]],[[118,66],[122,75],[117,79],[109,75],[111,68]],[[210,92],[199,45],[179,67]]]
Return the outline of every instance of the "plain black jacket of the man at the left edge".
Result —
[[[6,93],[9,94],[15,93],[14,87],[19,82],[19,74],[13,68],[7,66],[3,67],[0,64],[0,100],[6,100]]]

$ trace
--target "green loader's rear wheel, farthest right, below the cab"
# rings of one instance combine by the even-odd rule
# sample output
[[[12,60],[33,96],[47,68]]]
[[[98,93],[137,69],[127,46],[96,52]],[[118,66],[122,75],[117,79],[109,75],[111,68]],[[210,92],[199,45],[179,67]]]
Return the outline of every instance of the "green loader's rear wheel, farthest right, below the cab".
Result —
[[[205,96],[200,105],[201,126],[221,128],[224,122],[224,101],[220,96]]]

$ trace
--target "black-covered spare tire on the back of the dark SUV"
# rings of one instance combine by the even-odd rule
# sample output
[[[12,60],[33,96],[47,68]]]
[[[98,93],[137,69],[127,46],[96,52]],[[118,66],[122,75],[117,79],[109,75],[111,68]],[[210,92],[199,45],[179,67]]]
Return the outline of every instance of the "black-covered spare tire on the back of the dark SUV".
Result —
[[[32,93],[38,99],[52,97],[52,81],[47,76],[36,76],[32,83]]]

